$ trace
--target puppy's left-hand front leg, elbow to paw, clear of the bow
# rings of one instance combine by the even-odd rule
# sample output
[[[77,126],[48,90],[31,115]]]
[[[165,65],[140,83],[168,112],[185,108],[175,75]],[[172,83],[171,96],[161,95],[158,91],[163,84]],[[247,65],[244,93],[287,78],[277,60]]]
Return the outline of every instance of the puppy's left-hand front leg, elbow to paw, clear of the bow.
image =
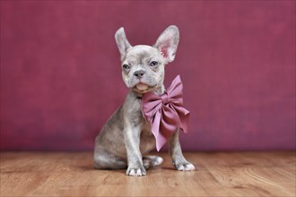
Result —
[[[142,154],[140,151],[140,133],[139,126],[131,125],[126,121],[124,129],[124,138],[126,143],[127,176],[145,176],[146,170],[143,166]]]

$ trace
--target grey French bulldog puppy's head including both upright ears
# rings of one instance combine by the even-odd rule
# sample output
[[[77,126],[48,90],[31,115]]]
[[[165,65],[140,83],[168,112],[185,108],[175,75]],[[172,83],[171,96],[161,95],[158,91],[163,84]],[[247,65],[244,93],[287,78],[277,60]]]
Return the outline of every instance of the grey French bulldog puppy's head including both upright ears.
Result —
[[[178,47],[178,28],[170,26],[161,33],[154,46],[131,46],[120,28],[115,39],[121,55],[122,77],[127,88],[137,93],[157,90],[163,84],[164,65],[172,62]]]

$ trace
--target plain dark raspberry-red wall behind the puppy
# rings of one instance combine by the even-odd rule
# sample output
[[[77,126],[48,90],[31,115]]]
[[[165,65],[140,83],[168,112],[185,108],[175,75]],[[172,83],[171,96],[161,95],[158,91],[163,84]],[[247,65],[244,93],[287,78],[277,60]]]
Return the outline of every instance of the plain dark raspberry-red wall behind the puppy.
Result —
[[[1,1],[1,150],[92,150],[127,92],[114,33],[180,30],[183,150],[295,150],[295,1]]]

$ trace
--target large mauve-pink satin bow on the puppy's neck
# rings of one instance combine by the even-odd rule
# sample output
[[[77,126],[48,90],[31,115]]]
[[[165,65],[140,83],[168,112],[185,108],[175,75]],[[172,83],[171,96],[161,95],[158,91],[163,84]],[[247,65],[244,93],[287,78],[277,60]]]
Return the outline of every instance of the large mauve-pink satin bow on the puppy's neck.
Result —
[[[151,124],[158,151],[178,128],[187,133],[189,111],[183,107],[182,90],[178,75],[161,96],[154,92],[143,95],[142,112]]]

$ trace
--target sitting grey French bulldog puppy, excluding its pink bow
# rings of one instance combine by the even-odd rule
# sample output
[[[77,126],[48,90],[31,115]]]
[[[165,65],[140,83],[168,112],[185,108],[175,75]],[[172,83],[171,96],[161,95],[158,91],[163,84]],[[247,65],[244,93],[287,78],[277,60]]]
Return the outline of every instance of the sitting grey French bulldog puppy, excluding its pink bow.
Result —
[[[142,95],[154,91],[164,92],[164,67],[172,62],[178,47],[179,33],[170,26],[161,33],[153,47],[131,46],[120,28],[115,39],[121,55],[122,77],[129,93],[124,104],[109,118],[96,137],[94,167],[98,169],[127,168],[127,176],[145,176],[146,169],[161,165],[163,159],[144,156],[155,148],[151,125],[141,111]],[[169,140],[173,166],[178,170],[195,170],[183,157],[178,140],[179,130]]]

